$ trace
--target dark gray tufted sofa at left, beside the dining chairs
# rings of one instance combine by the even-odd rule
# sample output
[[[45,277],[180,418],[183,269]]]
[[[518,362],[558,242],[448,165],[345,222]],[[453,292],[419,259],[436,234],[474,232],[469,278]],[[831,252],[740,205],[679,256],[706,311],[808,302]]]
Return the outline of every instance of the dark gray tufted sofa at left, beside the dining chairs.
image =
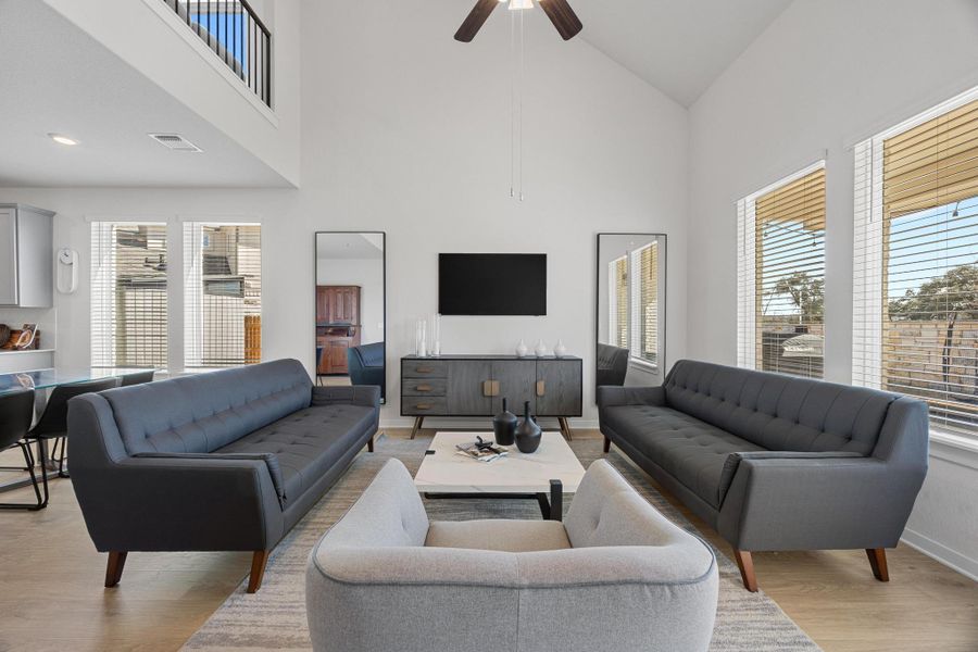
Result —
[[[313,387],[296,360],[123,387],[68,403],[72,478],[115,586],[129,551],[268,552],[373,451],[377,387]]]

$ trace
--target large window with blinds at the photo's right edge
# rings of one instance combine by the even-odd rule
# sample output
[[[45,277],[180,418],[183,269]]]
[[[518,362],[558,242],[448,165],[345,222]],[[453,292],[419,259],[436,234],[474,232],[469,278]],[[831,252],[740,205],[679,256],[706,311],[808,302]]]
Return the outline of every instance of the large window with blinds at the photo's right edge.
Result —
[[[978,89],[856,147],[853,383],[978,435]]]

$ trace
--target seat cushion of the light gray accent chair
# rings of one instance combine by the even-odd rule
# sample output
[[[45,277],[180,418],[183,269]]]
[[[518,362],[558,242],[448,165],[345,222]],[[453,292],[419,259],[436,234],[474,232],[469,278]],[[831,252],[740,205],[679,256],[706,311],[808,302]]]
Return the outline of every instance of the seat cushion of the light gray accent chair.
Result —
[[[570,548],[564,526],[556,521],[434,522],[425,540],[428,548],[461,548],[499,552],[539,552]]]

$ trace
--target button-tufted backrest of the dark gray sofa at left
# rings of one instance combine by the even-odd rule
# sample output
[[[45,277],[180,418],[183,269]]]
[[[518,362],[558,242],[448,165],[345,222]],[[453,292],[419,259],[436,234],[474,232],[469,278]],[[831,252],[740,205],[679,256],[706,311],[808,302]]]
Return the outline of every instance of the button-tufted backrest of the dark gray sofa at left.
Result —
[[[210,453],[309,408],[312,381],[299,361],[276,360],[102,396],[130,455]]]

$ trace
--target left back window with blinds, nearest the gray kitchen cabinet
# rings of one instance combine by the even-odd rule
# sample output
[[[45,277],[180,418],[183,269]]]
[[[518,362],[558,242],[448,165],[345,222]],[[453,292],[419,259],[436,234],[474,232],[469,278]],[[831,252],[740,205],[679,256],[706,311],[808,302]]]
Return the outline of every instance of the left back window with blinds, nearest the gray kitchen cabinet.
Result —
[[[91,228],[91,364],[166,367],[166,225]]]

